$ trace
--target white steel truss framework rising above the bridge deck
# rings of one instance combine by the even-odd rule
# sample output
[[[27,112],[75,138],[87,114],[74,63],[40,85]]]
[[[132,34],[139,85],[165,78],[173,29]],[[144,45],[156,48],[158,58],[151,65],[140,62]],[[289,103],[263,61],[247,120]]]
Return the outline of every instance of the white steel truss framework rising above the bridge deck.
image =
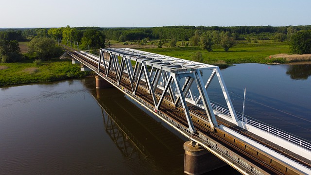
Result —
[[[102,72],[106,76],[113,71],[118,84],[121,82],[122,75],[126,74],[131,86],[131,89],[128,90],[131,90],[134,95],[137,94],[139,85],[146,85],[153,98],[155,110],[161,109],[164,97],[169,95],[171,105],[182,105],[184,108],[189,129],[193,132],[195,132],[195,128],[191,121],[187,102],[205,109],[210,127],[219,127],[207,94],[207,88],[216,75],[230,111],[226,120],[229,117],[231,123],[238,125],[234,107],[218,66],[129,48],[101,49],[98,61],[98,71],[101,66],[104,67]],[[212,70],[207,82],[203,81],[201,75],[203,70]],[[191,87],[193,82],[199,92],[199,97],[194,96],[194,86]]]

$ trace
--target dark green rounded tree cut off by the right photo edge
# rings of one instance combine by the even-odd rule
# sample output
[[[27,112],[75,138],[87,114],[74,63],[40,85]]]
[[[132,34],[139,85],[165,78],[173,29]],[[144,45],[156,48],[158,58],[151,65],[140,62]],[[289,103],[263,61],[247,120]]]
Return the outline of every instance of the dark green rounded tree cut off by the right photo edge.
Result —
[[[311,30],[302,30],[293,34],[289,42],[289,46],[291,53],[311,53]]]

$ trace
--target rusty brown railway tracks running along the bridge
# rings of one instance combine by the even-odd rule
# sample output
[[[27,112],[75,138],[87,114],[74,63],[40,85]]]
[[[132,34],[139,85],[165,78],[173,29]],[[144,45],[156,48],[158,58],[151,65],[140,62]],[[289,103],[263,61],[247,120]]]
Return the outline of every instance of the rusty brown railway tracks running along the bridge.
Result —
[[[69,48],[69,49],[71,49],[71,48]],[[76,55],[77,57],[82,58],[83,60],[90,59],[89,57],[83,58],[84,55],[81,54],[81,53],[75,53],[75,52],[71,52],[71,53]],[[86,62],[89,65],[97,68],[98,64],[96,64],[96,62],[98,62],[98,61],[95,60],[95,59],[93,59],[93,60],[94,60],[95,63],[92,62],[92,61],[86,61]],[[101,66],[101,70],[100,71],[101,71],[102,74],[105,74],[103,66]],[[111,79],[114,82],[117,82],[117,78],[116,78],[115,73],[113,71],[110,71],[109,73],[110,74],[109,74],[108,78]],[[129,84],[129,78],[128,78],[126,73],[123,73],[120,85],[122,87],[126,88],[126,89],[131,89],[131,85]],[[132,90],[130,90],[130,91],[132,91]],[[161,95],[161,90],[156,89],[155,92],[157,92],[156,96],[157,96],[157,98],[159,98],[160,95]],[[143,84],[143,82],[141,82],[141,81],[139,82],[139,88],[138,88],[136,96],[138,96],[139,98],[143,99],[149,105],[154,106],[153,105],[154,103],[153,103],[152,96],[149,95],[148,89],[147,89],[146,85]],[[170,101],[170,97],[168,95],[165,96],[165,101],[167,101],[167,102]],[[199,115],[204,120],[208,121],[206,113],[205,113],[205,111],[203,111],[203,109],[201,109],[201,108],[199,108],[197,106],[191,106],[190,104],[188,104],[188,105],[190,106],[189,107],[190,113]],[[184,125],[184,126],[188,126],[188,122],[186,120],[185,114],[183,113],[183,108],[182,107],[178,107],[178,106],[173,107],[172,105],[168,105],[168,103],[162,103],[160,110],[161,110],[162,113],[165,113],[167,116],[170,116],[171,118],[173,118],[177,123],[180,123],[181,125]],[[193,116],[193,117],[195,117],[195,116]],[[241,148],[241,147],[237,147],[237,145],[235,144],[235,141],[238,140],[238,139],[235,139],[232,142],[232,141],[226,139],[225,136],[222,136],[222,134],[219,134],[219,133],[222,133],[222,132],[218,131],[217,128],[216,129],[210,128],[208,126],[208,123],[202,122],[202,121],[197,120],[197,119],[196,120],[192,120],[192,122],[193,122],[194,127],[198,131],[206,134],[208,137],[211,137],[214,140],[219,141],[221,144],[226,145],[227,147],[230,147],[232,150],[235,150],[236,154],[243,155],[243,157],[247,157],[249,159],[249,161],[253,162],[254,164],[260,164],[261,165],[260,168],[262,168],[263,170],[265,170],[267,172],[270,172],[271,174],[278,174],[278,175],[287,174],[286,173],[287,168],[286,168],[286,170],[282,170],[279,167],[277,167],[276,165],[274,165],[271,161],[269,163],[269,162],[263,160],[263,158],[257,157],[258,156],[258,152],[257,152],[257,155],[254,155],[254,153],[252,153],[252,152],[248,151],[247,149],[245,149],[246,146],[245,146],[244,149]],[[246,137],[246,138],[248,138],[250,140],[256,141],[257,143],[259,143],[259,144],[261,144],[261,145],[263,145],[263,146],[265,146],[265,147],[275,151],[276,153],[281,154],[284,157],[287,157],[287,158],[295,161],[296,163],[299,163],[300,165],[305,166],[305,167],[311,169],[310,163],[305,162],[305,161],[303,161],[301,159],[298,159],[297,157],[294,157],[291,154],[288,154],[288,153],[286,153],[286,152],[284,152],[284,151],[282,151],[280,149],[276,149],[276,148],[271,147],[265,141],[262,141],[259,138],[256,138],[256,137],[253,137],[250,134],[247,134],[241,128],[237,128],[236,126],[230,125],[230,124],[222,122],[220,120],[217,120],[217,123],[218,124],[222,124],[222,125],[230,128],[231,130],[234,130],[235,132],[241,134],[242,136],[244,136],[244,137]]]

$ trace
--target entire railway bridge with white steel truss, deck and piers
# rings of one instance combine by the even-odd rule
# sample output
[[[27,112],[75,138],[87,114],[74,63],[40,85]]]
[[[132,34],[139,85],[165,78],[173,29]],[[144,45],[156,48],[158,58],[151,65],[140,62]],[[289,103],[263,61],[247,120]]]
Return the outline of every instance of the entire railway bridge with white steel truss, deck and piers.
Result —
[[[218,166],[202,158],[206,150],[245,175],[311,174],[311,144],[237,115],[217,66],[128,48],[101,49],[99,56],[67,53],[99,75],[97,86],[105,80],[190,139],[184,144],[187,174]],[[213,79],[227,108],[209,101]]]

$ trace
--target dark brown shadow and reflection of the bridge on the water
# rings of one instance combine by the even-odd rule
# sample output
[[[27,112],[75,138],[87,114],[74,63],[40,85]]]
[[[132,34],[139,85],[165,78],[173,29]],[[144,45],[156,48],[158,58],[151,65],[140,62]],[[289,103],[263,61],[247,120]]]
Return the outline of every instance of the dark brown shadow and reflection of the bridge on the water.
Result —
[[[85,85],[102,109],[105,132],[124,158],[133,162],[137,159],[144,160],[147,166],[154,169],[153,174],[184,174],[183,143],[188,141],[187,138],[126,97],[120,90],[96,89],[93,78],[86,79]],[[145,165],[133,166],[141,169]],[[135,172],[146,173],[141,170]],[[229,165],[207,174],[210,173],[239,174]]]

